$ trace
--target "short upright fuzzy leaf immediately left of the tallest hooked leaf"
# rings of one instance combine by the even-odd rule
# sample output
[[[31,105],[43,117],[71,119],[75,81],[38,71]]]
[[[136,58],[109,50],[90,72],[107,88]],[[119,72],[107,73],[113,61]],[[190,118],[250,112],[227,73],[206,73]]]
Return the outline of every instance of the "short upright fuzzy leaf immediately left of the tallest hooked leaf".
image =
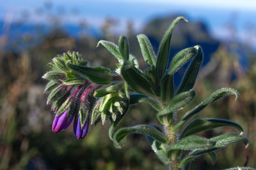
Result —
[[[137,38],[140,43],[142,55],[147,62],[148,67],[156,66],[156,54],[147,36],[140,34]]]

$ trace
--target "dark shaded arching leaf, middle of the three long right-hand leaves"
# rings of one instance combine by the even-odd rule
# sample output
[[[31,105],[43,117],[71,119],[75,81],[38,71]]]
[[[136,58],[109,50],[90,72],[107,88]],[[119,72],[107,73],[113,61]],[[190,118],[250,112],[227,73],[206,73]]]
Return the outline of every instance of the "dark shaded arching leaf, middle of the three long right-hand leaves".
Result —
[[[196,118],[182,131],[180,138],[223,126],[235,127],[238,131],[240,131],[240,135],[243,135],[243,127],[236,122],[220,118]]]

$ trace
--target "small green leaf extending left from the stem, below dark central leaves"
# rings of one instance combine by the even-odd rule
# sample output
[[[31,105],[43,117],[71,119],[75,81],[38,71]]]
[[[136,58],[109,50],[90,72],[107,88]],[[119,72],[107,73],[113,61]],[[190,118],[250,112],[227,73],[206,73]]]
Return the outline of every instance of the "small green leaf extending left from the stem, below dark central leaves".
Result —
[[[152,106],[152,108],[154,108],[156,111],[163,110],[163,106],[161,105],[161,103],[152,97],[145,96],[143,94],[130,94],[131,105],[141,102],[146,102],[150,104],[150,106]]]

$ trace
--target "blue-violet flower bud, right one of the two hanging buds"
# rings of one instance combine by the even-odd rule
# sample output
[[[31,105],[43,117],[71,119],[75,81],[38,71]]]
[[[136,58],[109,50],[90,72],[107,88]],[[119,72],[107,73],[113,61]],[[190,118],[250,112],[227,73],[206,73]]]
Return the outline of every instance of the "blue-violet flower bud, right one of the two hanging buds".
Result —
[[[81,120],[79,115],[77,121],[74,122],[74,134],[76,135],[76,138],[83,139],[84,136],[86,136],[88,129],[89,129],[89,118],[87,118],[83,127],[81,127]]]

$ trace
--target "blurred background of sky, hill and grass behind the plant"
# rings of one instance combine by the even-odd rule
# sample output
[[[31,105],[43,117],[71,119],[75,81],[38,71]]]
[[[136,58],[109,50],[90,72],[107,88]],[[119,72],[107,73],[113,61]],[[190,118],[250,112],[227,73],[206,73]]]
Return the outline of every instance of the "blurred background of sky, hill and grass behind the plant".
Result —
[[[193,162],[193,169],[256,167],[256,2],[180,0],[57,0],[0,1],[0,169],[167,169],[150,151],[147,140],[129,135],[122,150],[108,138],[108,125],[90,127],[86,138],[77,140],[70,126],[54,134],[54,118],[41,76],[58,53],[81,52],[90,66],[115,67],[116,60],[97,46],[100,39],[129,39],[132,54],[145,67],[136,34],[148,36],[154,49],[172,20],[184,15],[171,43],[171,55],[201,45],[204,63],[196,81],[192,108],[220,87],[237,89],[241,97],[228,97],[207,106],[200,117],[227,118],[244,127],[250,140],[219,150],[212,166],[209,157]],[[185,66],[186,67],[186,66]],[[179,85],[182,67],[175,74]],[[180,111],[182,115],[188,108]],[[129,110],[119,127],[156,123],[156,111],[147,104]],[[212,137],[220,128],[204,132]]]

